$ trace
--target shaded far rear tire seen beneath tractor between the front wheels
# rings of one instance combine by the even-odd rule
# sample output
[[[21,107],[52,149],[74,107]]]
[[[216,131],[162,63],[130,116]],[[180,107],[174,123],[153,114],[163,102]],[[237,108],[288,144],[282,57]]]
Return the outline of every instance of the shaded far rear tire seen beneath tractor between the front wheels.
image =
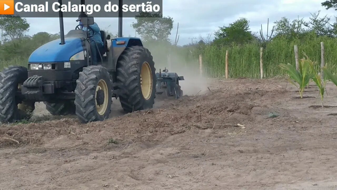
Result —
[[[63,101],[59,103],[43,102],[48,112],[54,116],[67,116],[76,113],[74,101]]]

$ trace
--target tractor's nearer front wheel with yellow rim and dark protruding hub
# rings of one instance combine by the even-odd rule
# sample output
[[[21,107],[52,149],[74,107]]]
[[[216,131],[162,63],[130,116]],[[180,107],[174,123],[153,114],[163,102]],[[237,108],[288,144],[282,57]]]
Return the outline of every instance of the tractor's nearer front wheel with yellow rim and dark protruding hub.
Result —
[[[109,72],[102,66],[88,66],[76,80],[76,115],[82,123],[109,118],[112,104],[112,84]]]

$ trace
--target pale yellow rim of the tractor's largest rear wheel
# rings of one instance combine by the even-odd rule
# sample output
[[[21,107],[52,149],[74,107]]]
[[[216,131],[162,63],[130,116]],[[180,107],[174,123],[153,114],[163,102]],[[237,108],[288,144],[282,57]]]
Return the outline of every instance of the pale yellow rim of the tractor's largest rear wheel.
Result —
[[[152,94],[152,72],[149,63],[144,62],[141,68],[141,88],[143,97],[148,100]]]

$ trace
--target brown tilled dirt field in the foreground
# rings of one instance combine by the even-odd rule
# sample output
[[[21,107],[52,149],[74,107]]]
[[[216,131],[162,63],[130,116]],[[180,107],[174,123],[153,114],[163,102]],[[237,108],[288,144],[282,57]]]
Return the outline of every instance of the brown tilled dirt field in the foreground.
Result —
[[[114,100],[104,122],[37,122],[55,119],[38,109],[35,123],[3,125],[19,144],[0,140],[0,189],[337,189],[336,86],[324,109],[314,86],[299,99],[284,79],[208,87],[127,115]]]

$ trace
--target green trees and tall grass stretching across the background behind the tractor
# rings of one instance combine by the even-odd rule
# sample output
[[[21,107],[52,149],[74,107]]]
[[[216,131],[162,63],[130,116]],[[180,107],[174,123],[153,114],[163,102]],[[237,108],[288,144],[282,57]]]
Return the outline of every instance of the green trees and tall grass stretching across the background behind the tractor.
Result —
[[[337,1],[328,0],[322,5],[336,9]],[[283,75],[285,72],[278,65],[295,65],[294,45],[299,47],[300,58],[304,56],[301,54],[304,51],[312,61],[320,62],[320,42],[325,43],[326,63],[337,63],[337,20],[320,16],[319,11],[313,13],[307,22],[301,18],[289,20],[283,17],[274,22],[274,28],[269,26],[268,33],[267,19],[260,33],[253,33],[249,29],[249,20],[239,18],[229,25],[220,26],[207,37],[200,37],[196,42],[183,47],[176,45],[179,41],[179,30],[175,41],[168,39],[171,32],[176,34],[176,31],[172,31],[173,18],[155,18],[151,14],[146,16],[149,18],[136,17],[132,26],[153,54],[158,70],[167,67],[167,57],[171,54],[173,69],[185,67],[197,71],[198,57],[202,54],[204,73],[210,77],[224,77],[225,52],[229,50],[229,77],[258,78],[260,47],[264,47],[266,76]],[[26,66],[29,55],[36,48],[59,38],[59,34],[47,32],[25,35],[29,30],[29,23],[26,19],[15,16],[0,19],[0,27],[6,37],[6,42],[0,46],[1,69],[7,65]],[[210,40],[212,35],[214,40]],[[337,67],[334,68],[336,70],[332,73],[337,73]]]

